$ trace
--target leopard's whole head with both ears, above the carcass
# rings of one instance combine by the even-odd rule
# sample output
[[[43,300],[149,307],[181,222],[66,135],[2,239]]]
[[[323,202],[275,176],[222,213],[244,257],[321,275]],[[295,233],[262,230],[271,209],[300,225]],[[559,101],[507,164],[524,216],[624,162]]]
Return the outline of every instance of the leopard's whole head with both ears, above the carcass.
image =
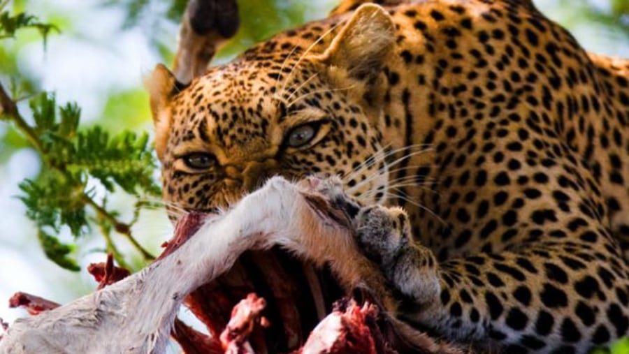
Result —
[[[364,5],[326,26],[280,34],[185,87],[157,66],[147,87],[166,202],[224,208],[273,175],[339,175],[352,195],[383,198],[379,87],[393,24]]]

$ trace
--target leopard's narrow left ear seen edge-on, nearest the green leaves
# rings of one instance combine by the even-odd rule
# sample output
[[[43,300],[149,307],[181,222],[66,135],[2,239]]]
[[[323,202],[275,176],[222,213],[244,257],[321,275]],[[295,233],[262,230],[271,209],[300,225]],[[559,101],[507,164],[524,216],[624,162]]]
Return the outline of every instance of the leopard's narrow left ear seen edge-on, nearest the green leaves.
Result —
[[[151,105],[153,123],[155,126],[155,149],[157,157],[161,160],[168,142],[168,132],[171,130],[172,117],[168,110],[173,95],[185,88],[175,79],[171,71],[162,64],[157,64],[153,72],[144,80]]]

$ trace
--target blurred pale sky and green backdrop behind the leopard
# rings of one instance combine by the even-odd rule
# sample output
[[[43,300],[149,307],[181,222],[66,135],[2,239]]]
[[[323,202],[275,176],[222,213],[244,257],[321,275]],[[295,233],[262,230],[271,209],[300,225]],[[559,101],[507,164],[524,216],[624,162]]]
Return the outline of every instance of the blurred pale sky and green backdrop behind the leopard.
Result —
[[[1,1],[0,1],[1,2]],[[242,27],[224,47],[215,63],[229,61],[238,52],[280,29],[324,17],[336,0],[240,0]],[[537,6],[563,24],[588,50],[629,57],[629,0],[538,0]],[[24,98],[41,91],[55,91],[57,101],[76,101],[82,108],[82,124],[99,124],[112,133],[123,128],[151,131],[143,75],[158,62],[173,59],[183,0],[15,0],[14,13],[27,11],[51,22],[61,33],[51,34],[43,45],[34,30],[0,42],[0,81],[20,78]],[[25,104],[23,101],[22,104]],[[36,241],[35,228],[24,216],[16,198],[17,184],[38,173],[40,161],[26,140],[10,124],[0,121],[0,318],[11,322],[22,311],[4,305],[16,291],[43,295],[57,302],[94,289],[85,272],[73,273],[45,258]],[[159,178],[156,171],[155,178]],[[101,186],[94,183],[103,198]],[[130,219],[133,198],[110,198],[109,205]],[[171,234],[164,212],[144,211],[133,233],[153,253]],[[73,240],[68,232],[60,238],[77,242],[81,265],[104,259],[103,240]],[[118,240],[123,251],[124,240]],[[133,257],[133,254],[131,254]],[[133,265],[142,261],[136,256]]]

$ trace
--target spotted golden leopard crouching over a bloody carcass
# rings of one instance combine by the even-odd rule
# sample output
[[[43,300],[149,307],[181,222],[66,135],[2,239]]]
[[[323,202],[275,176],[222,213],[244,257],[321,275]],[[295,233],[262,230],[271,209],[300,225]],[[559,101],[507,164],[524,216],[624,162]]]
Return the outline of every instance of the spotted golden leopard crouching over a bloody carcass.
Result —
[[[502,353],[628,334],[629,60],[532,1],[344,0],[147,88],[169,204],[337,176],[414,329]]]

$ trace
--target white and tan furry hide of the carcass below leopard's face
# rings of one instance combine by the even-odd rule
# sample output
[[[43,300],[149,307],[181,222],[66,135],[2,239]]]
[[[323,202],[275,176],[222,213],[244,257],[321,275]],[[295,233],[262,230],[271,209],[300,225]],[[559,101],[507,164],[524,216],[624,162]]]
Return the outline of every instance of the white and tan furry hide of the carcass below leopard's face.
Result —
[[[326,264],[345,290],[362,287],[385,295],[384,279],[354,244],[351,222],[312,188],[313,181],[292,184],[273,177],[223,215],[198,219],[193,214],[201,222],[180,226],[175,242],[141,272],[62,307],[16,320],[0,341],[0,353],[163,353],[175,315],[190,293],[230,270],[243,252],[273,246],[315,266]],[[366,340],[361,345],[373,344],[378,353],[393,353],[396,346],[414,353],[458,353],[386,316],[387,307],[394,306],[390,298],[380,296],[376,302],[382,304],[379,317],[367,304],[333,311],[299,353],[349,353],[340,344],[368,332],[372,337],[358,336]],[[247,336],[236,348],[254,351]],[[222,350],[229,348],[225,343]]]

